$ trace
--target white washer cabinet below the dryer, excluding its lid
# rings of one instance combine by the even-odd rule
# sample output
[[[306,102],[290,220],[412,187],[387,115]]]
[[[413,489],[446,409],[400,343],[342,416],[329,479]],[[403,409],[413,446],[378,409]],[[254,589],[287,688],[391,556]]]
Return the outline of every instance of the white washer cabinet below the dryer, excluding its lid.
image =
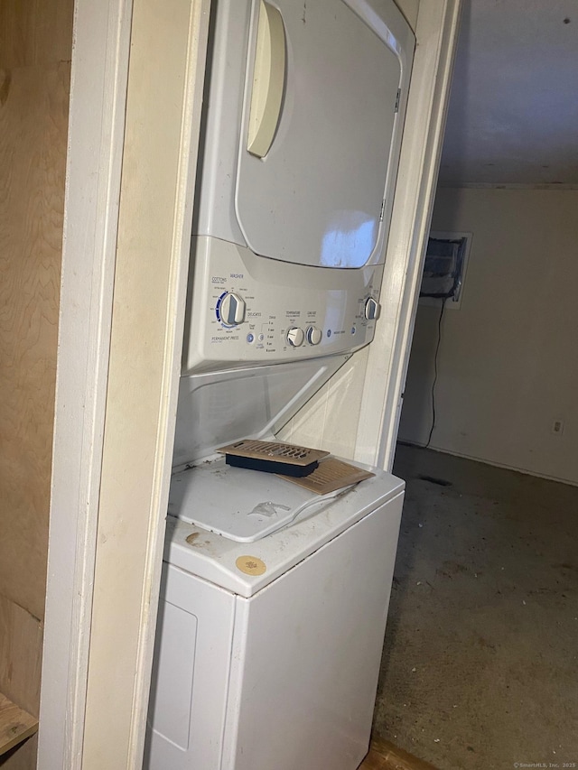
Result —
[[[268,499],[257,471],[214,473]],[[169,519],[146,767],[359,766],[403,488],[382,474],[253,543]]]

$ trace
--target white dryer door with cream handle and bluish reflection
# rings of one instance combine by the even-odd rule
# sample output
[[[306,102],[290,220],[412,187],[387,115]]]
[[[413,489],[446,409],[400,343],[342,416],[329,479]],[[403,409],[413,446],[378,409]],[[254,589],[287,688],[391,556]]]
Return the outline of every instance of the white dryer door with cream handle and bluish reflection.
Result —
[[[255,4],[235,207],[258,255],[327,267],[381,261],[403,57],[370,5]],[[264,80],[268,105],[254,94]],[[251,144],[259,110],[272,136],[263,157],[262,143],[257,151]]]

